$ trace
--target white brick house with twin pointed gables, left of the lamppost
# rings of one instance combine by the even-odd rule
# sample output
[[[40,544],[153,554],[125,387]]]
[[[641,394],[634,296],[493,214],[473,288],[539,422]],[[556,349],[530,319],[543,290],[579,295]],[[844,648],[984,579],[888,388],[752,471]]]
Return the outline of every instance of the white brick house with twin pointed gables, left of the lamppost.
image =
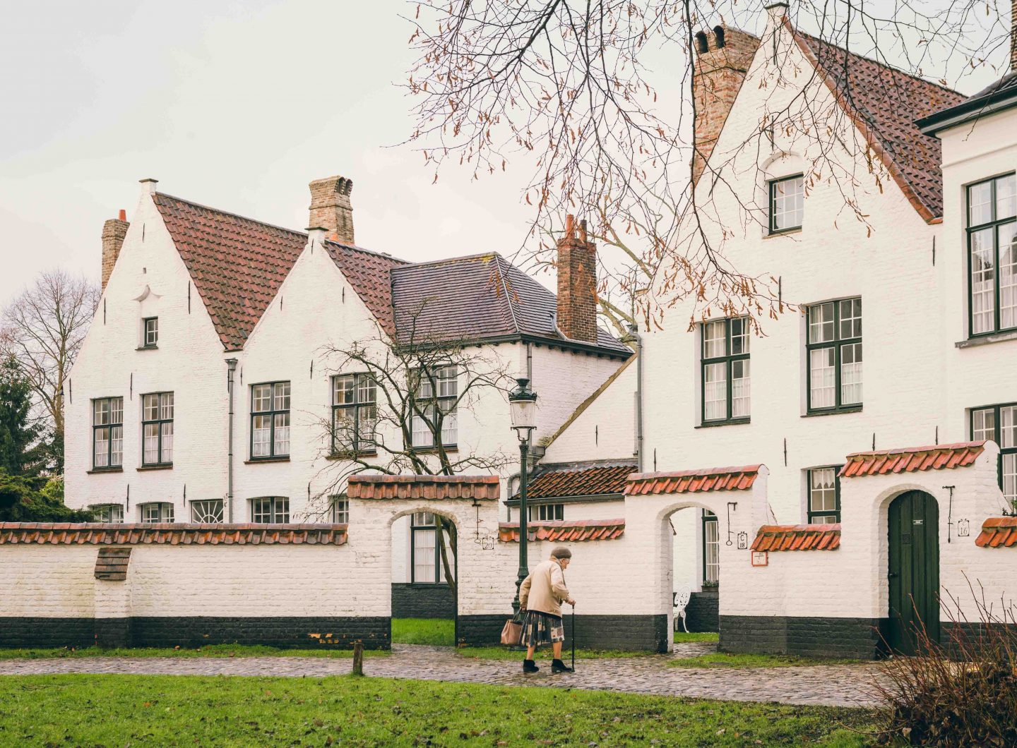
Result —
[[[333,453],[333,424],[402,438],[381,433],[380,387],[343,368],[336,351],[354,344],[382,357],[414,334],[454,341],[475,366],[528,377],[538,439],[632,355],[596,325],[595,250],[575,232],[559,248],[559,303],[495,252],[408,263],[357,246],[344,178],[311,183],[307,233],[141,184],[130,223],[104,228],[103,296],[67,382],[67,502],[106,521],[345,521],[355,465]],[[434,376],[446,451],[502,455],[500,472],[518,472],[503,391],[457,408],[466,372]],[[412,439],[433,447],[416,421]],[[414,542],[409,517],[394,531],[394,578],[433,583],[432,521],[414,520]]]

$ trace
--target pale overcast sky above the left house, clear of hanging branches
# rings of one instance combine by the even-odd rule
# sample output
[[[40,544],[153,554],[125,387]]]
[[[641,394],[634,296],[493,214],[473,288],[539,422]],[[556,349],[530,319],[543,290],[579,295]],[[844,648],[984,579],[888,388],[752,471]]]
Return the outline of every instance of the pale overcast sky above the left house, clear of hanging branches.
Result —
[[[102,225],[137,181],[294,229],[307,183],[354,181],[357,243],[410,260],[526,238],[528,174],[471,182],[398,146],[403,0],[53,2],[0,27],[0,305],[63,266],[99,279]],[[395,147],[390,147],[395,146]],[[544,277],[545,283],[549,278]]]

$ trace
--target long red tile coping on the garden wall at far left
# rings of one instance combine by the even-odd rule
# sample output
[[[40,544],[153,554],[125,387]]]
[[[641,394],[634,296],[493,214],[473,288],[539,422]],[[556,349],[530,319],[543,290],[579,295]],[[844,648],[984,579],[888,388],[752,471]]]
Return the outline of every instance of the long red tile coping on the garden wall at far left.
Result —
[[[0,522],[0,545],[341,546],[346,539],[345,524]]]

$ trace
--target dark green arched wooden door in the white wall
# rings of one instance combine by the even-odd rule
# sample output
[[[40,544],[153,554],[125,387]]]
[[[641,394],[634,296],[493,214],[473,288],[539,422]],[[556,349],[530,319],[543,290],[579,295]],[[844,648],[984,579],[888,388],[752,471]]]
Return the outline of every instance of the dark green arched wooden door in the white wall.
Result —
[[[917,632],[940,640],[940,509],[921,491],[901,494],[889,510],[890,626],[887,643],[917,653]]]

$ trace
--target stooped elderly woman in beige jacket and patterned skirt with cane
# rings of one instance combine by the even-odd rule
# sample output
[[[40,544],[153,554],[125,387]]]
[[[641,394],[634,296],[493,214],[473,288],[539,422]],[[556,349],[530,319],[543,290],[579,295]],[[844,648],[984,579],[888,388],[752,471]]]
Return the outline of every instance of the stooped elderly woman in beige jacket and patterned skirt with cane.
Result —
[[[519,640],[526,647],[524,673],[536,673],[540,670],[533,662],[533,653],[541,644],[550,644],[554,651],[552,673],[574,672],[561,662],[561,642],[565,639],[561,604],[576,605],[576,601],[569,595],[565,575],[562,573],[569,568],[571,561],[572,551],[564,547],[555,548],[551,551],[551,557],[538,564],[519,588],[520,608],[526,611],[523,633]]]

